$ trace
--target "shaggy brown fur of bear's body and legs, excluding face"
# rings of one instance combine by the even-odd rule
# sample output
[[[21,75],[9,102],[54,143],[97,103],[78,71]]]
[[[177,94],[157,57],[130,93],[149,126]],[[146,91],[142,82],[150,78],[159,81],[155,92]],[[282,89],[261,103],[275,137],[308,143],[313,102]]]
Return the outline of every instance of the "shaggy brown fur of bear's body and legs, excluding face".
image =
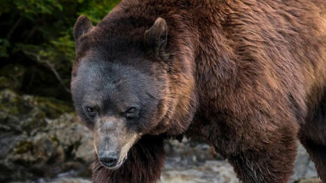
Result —
[[[79,40],[73,74],[95,40],[142,42],[158,17],[168,24],[169,82],[147,134],[200,139],[242,182],[271,183],[288,182],[299,138],[326,182],[326,1],[124,0]],[[96,161],[94,182],[156,182],[162,141],[143,138],[118,170]]]

